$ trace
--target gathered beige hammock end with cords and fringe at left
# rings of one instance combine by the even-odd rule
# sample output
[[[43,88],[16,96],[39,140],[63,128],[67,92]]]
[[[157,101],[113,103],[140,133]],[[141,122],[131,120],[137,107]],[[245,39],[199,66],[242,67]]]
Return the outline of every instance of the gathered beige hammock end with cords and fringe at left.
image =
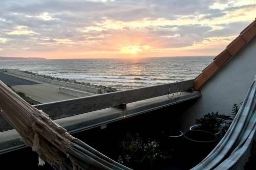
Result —
[[[55,169],[130,169],[74,138],[49,116],[20,98],[0,81],[0,113],[39,155],[39,165]]]

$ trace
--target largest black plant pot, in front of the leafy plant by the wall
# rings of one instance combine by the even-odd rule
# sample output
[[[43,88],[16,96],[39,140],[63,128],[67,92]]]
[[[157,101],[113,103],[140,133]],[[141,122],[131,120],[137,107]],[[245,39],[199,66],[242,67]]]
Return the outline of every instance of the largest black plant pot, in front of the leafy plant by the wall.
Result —
[[[218,143],[218,137],[210,132],[191,130],[184,133],[184,152],[189,166],[200,163]],[[190,167],[189,167],[190,168]]]

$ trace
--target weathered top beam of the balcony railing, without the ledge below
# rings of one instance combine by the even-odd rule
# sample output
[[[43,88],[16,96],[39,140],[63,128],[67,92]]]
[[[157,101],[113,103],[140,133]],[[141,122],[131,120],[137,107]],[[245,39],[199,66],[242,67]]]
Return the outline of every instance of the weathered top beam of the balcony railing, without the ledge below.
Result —
[[[156,98],[179,91],[193,88],[193,80],[162,84],[132,90],[117,91],[99,95],[86,96],[65,101],[34,105],[46,112],[52,119],[60,119],[87,112],[120,106],[125,109],[126,104],[146,99]],[[166,97],[167,98],[167,97]],[[168,98],[167,98],[168,99]],[[157,103],[157,101],[155,101]],[[0,115],[0,132],[13,129]]]

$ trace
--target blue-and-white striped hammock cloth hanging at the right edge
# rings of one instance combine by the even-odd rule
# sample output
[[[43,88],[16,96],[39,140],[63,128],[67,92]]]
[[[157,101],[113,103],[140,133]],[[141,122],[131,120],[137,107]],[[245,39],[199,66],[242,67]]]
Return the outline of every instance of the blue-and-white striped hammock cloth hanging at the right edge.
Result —
[[[243,169],[256,130],[256,76],[227,133],[193,170]]]

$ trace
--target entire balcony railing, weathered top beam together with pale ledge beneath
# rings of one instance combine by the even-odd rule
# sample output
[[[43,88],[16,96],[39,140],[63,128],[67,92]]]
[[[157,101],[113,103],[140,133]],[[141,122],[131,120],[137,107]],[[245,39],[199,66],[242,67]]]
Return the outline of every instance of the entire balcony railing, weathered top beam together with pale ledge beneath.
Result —
[[[193,88],[193,80],[86,96],[72,100],[52,102],[34,107],[46,112],[54,122],[71,134],[146,115],[161,108],[189,104],[201,96]],[[188,91],[187,91],[188,90]],[[183,91],[177,93],[177,91]],[[168,95],[169,94],[169,95]],[[161,117],[161,116],[160,116]],[[26,147],[20,136],[0,115],[0,155]]]

